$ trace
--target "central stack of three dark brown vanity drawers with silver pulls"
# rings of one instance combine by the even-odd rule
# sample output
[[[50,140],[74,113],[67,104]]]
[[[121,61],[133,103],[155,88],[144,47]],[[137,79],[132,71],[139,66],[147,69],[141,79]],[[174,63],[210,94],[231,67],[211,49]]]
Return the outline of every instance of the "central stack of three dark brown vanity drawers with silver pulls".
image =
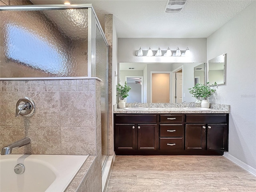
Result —
[[[159,115],[159,150],[183,150],[183,114]]]

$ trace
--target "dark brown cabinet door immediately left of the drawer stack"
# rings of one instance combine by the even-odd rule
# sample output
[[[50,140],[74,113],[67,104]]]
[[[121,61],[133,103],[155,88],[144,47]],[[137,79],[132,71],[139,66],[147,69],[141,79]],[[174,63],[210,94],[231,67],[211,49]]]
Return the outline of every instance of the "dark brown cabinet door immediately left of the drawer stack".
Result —
[[[156,124],[138,124],[138,150],[157,149]]]

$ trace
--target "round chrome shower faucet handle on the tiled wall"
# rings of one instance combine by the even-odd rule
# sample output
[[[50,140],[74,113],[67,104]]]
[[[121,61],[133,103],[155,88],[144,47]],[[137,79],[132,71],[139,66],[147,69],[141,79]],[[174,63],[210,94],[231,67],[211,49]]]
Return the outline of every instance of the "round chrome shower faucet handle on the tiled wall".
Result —
[[[22,116],[32,116],[36,110],[36,104],[32,98],[24,97],[18,100],[16,104],[16,117]]]

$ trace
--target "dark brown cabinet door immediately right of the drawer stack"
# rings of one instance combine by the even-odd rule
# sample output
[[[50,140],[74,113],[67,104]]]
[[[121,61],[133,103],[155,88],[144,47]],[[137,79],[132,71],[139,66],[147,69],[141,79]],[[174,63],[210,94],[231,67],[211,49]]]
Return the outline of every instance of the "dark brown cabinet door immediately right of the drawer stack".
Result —
[[[204,124],[186,124],[185,150],[206,149],[206,126]]]

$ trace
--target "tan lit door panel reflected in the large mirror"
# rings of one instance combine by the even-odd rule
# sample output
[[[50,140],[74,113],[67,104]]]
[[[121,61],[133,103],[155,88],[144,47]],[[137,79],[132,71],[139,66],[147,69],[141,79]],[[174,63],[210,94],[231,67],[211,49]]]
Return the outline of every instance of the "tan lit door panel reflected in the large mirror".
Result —
[[[170,73],[152,73],[152,103],[170,102]]]

